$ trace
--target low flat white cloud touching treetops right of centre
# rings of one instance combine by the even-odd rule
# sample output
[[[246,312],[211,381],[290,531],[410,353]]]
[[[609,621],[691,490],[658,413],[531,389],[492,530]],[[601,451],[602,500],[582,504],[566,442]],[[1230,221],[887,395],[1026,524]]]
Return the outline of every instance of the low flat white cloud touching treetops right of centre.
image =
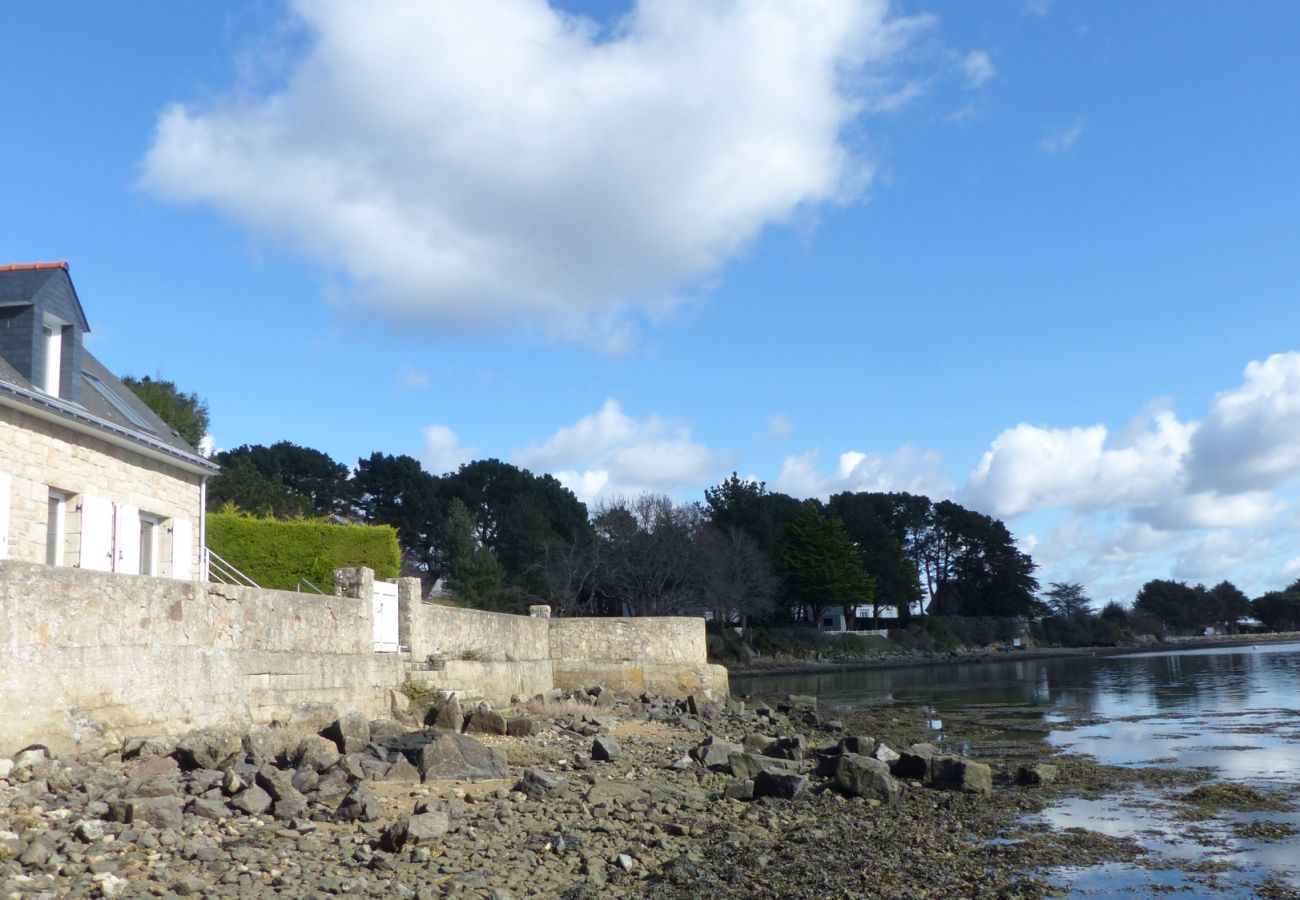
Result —
[[[818,468],[819,450],[785,458],[774,489],[793,497],[829,497],[842,490],[907,492],[933,499],[948,497],[953,485],[944,475],[944,459],[902,446],[892,454],[841,453],[833,472]]]

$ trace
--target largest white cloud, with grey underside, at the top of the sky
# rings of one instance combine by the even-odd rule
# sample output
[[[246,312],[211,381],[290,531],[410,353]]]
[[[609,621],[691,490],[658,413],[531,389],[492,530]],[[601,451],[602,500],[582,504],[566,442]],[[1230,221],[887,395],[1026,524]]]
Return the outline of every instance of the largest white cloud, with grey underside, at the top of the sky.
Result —
[[[274,92],[159,118],[142,185],[344,273],[404,323],[615,347],[764,226],[855,199],[845,142],[922,82],[887,0],[295,0]]]

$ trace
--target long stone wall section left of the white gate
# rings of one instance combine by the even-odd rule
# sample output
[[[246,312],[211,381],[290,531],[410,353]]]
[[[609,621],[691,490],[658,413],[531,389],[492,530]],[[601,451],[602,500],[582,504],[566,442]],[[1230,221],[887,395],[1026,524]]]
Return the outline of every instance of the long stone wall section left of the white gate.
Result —
[[[372,715],[406,659],[370,602],[0,562],[0,754],[118,734],[265,723],[303,701]]]

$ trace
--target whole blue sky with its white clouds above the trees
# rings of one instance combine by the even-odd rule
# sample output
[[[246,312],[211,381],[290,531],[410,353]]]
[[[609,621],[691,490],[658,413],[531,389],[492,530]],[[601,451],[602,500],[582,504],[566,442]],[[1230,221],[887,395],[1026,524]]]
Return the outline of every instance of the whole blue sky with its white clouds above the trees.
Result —
[[[1300,576],[1300,8],[12,4],[3,261],[217,446],[914,490]]]

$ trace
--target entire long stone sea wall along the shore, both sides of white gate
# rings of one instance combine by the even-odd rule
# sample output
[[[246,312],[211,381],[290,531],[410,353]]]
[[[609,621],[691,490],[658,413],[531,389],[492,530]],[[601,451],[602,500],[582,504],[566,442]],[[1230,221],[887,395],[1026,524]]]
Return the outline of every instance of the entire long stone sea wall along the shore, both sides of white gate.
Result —
[[[417,579],[399,579],[394,640],[380,637],[391,601],[376,598],[369,570],[339,570],[335,584],[329,597],[0,562],[0,754],[104,730],[286,721],[303,702],[382,715],[413,680],[494,704],[593,684],[727,695],[703,619],[484,613],[430,603]]]

